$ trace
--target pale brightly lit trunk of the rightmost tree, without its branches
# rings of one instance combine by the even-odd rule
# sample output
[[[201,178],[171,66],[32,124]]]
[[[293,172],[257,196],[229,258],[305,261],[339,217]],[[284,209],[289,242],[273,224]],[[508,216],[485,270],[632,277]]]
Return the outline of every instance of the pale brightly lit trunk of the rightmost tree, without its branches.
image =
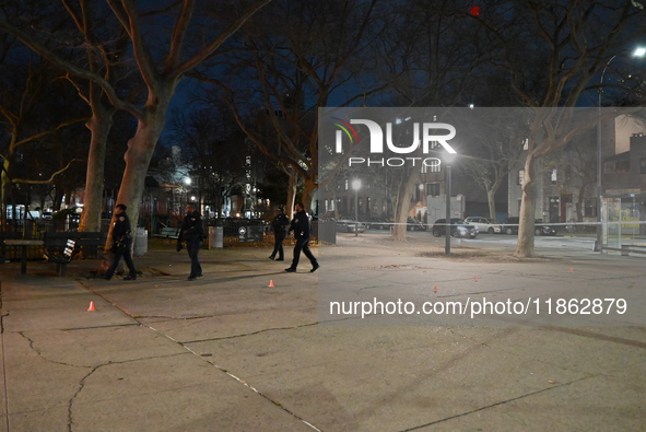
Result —
[[[531,153],[528,154],[527,161],[525,161],[525,183],[522,185],[522,200],[520,201],[518,243],[514,254],[519,258],[535,256],[536,178],[539,175],[537,168],[538,160]]]

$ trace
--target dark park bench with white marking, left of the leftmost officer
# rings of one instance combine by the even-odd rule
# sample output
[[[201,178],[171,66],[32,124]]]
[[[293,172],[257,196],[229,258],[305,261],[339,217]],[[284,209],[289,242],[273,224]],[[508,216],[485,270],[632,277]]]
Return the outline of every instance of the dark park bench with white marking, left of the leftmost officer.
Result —
[[[82,252],[85,257],[101,256],[105,247],[107,233],[68,232],[45,233],[45,259],[56,264],[59,276],[63,276],[66,266]]]

